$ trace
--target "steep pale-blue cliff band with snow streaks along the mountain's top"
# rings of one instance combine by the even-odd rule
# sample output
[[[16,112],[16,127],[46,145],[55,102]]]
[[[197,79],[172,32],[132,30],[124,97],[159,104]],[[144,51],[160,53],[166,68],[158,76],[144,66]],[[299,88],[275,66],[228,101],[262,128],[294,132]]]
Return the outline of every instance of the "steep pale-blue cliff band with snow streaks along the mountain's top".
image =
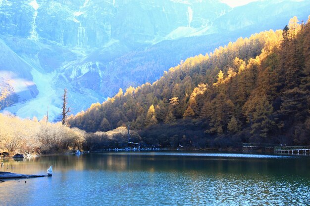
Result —
[[[111,39],[156,42],[179,27],[207,26],[228,10],[214,0],[2,0],[0,27],[2,35],[99,48]]]

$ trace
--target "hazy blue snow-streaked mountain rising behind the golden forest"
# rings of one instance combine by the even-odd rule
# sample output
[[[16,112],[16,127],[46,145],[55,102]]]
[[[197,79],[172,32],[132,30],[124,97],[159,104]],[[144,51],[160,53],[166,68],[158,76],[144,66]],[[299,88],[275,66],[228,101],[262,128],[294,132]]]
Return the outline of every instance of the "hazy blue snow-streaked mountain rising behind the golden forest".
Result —
[[[119,87],[154,82],[182,59],[261,30],[306,19],[310,1],[0,0],[0,109],[22,118],[76,113]],[[259,16],[264,14],[263,17]],[[13,98],[14,97],[14,98]],[[11,105],[16,103],[14,105]]]

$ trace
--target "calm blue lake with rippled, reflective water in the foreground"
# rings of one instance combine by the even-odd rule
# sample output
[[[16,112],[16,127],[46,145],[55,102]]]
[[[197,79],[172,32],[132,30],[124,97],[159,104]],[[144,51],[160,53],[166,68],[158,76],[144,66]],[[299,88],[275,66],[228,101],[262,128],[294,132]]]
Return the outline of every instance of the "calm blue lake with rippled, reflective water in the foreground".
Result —
[[[1,206],[310,205],[310,156],[111,152],[5,160]],[[25,183],[25,181],[27,181]]]

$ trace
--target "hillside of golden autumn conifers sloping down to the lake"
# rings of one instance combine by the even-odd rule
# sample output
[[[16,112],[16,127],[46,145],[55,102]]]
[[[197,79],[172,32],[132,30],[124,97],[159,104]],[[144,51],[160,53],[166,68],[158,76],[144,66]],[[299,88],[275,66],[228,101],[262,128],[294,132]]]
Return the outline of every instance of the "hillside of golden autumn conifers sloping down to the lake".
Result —
[[[130,123],[146,144],[310,144],[310,19],[188,58],[158,81],[72,116],[88,132]]]

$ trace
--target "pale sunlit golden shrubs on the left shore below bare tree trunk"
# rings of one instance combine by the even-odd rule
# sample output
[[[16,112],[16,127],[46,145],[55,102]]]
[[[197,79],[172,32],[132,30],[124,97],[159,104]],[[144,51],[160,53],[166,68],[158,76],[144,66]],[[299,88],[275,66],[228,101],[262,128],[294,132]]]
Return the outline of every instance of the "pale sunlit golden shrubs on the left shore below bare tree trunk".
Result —
[[[0,114],[0,123],[0,153],[6,152],[8,156],[63,153],[82,149],[85,143],[85,131],[47,123],[46,119],[23,120]]]

